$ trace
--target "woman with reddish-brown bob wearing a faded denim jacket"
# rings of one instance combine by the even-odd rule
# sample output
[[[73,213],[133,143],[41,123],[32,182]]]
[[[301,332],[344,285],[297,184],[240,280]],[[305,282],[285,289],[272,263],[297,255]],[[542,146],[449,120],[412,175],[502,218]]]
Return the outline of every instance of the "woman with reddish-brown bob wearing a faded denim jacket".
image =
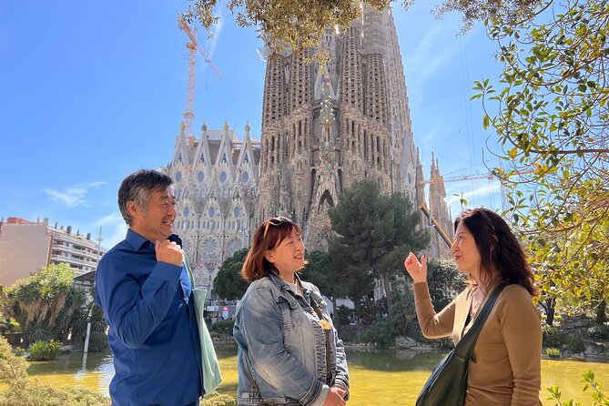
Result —
[[[239,406],[343,406],[347,359],[320,289],[299,279],[300,228],[269,218],[254,233],[241,274],[251,281],[239,301]]]

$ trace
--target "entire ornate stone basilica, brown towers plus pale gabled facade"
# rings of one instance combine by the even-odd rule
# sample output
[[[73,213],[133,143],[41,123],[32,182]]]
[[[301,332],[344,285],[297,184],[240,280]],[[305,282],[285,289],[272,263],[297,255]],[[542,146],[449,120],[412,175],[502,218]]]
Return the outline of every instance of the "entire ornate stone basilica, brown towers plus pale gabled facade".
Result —
[[[198,284],[211,287],[224,259],[249,247],[256,226],[282,215],[304,232],[308,250],[327,249],[328,210],[344,188],[361,178],[382,193],[402,193],[413,209],[426,205],[452,236],[452,220],[438,160],[431,158],[429,205],[414,145],[400,46],[391,9],[364,11],[340,34],[327,30],[321,47],[330,56],[306,63],[310,51],[268,57],[259,140],[246,124],[239,137],[181,127],[167,166],[176,182],[176,231]],[[429,222],[423,217],[421,228]],[[431,234],[431,258],[450,250]]]

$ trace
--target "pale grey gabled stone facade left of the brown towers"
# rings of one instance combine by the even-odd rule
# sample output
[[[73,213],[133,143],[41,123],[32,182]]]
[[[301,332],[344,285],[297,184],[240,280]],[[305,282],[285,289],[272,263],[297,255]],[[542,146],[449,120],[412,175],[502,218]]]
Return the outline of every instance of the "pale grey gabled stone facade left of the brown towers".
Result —
[[[245,136],[239,141],[225,123],[188,137],[184,126],[167,174],[174,179],[178,198],[175,232],[199,287],[210,288],[224,259],[249,247],[258,196],[259,143]]]

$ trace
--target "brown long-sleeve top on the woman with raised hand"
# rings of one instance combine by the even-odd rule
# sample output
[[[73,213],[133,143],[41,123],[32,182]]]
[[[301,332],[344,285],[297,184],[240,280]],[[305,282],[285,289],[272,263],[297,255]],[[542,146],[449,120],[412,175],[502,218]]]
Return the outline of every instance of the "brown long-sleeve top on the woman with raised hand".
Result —
[[[414,284],[414,300],[423,336],[438,339],[452,335],[456,344],[472,326],[465,326],[473,289],[462,291],[436,313],[427,282]],[[482,309],[482,306],[480,309]],[[475,315],[474,315],[475,318]],[[503,289],[482,326],[468,372],[466,406],[540,405],[542,327],[539,311],[520,285]]]

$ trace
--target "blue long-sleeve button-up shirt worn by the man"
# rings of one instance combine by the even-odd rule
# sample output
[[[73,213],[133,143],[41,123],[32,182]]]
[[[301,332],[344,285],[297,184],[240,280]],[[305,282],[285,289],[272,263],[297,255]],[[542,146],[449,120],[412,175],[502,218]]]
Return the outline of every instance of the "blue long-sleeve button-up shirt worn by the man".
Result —
[[[157,262],[131,229],[96,270],[96,302],[114,353],[113,406],[184,406],[203,394],[197,318],[186,268]]]

